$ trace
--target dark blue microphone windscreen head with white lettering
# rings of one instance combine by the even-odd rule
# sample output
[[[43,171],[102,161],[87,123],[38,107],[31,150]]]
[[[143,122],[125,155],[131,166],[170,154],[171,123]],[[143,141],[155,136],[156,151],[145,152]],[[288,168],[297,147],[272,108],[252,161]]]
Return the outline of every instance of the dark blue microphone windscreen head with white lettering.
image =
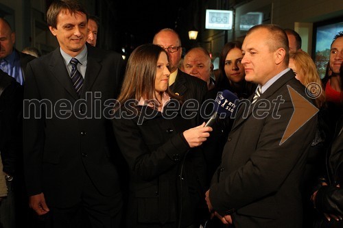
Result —
[[[215,98],[214,110],[217,114],[226,114],[231,116],[236,107],[236,102],[238,101],[239,99],[236,94],[229,90],[224,90],[221,93],[218,92],[217,97]]]

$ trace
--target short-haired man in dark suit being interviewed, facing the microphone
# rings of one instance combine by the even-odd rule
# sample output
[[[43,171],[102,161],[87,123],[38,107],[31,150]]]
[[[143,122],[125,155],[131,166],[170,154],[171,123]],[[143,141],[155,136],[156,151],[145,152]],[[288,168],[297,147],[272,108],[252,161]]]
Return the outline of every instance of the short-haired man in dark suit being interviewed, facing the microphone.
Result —
[[[246,81],[259,86],[250,97],[251,105],[239,105],[222,164],[206,192],[207,205],[223,223],[233,223],[236,228],[300,228],[300,180],[316,132],[318,110],[287,68],[288,41],[281,27],[252,27],[242,50]],[[291,91],[300,94],[307,105],[292,103]],[[301,115],[311,115],[294,124],[301,118],[294,107],[300,108]],[[315,112],[310,111],[312,107]]]

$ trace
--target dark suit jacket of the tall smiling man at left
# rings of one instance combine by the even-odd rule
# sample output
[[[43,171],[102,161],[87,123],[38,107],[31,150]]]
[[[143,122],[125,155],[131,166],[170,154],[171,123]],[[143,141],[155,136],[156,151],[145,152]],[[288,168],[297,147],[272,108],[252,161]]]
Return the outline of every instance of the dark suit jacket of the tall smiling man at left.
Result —
[[[41,114],[38,118],[34,118],[34,105],[26,102],[24,107],[27,192],[43,192],[48,205],[56,207],[78,202],[85,172],[102,194],[113,196],[119,191],[117,170],[111,161],[113,129],[103,111],[112,108],[104,101],[117,94],[123,60],[118,53],[90,45],[87,48],[80,100],[59,48],[27,65],[25,99],[36,99],[37,107],[38,101],[47,103],[36,112]]]

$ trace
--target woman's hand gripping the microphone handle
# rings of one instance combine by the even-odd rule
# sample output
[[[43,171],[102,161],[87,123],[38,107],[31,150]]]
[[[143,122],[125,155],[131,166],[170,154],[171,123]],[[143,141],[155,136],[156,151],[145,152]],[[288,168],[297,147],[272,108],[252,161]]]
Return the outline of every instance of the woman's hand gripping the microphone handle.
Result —
[[[209,132],[212,131],[212,127],[204,127],[205,123],[198,127],[193,127],[186,131],[183,131],[183,136],[187,140],[189,147],[198,147],[202,142],[206,141],[206,138],[210,136]]]

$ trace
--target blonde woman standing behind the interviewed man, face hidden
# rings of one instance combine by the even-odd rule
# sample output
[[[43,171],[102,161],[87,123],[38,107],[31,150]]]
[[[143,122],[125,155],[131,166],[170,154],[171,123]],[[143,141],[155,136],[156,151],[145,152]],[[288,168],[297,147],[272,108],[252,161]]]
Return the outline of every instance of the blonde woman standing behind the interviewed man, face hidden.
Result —
[[[305,174],[303,175],[303,227],[312,228],[316,212],[309,199],[311,197],[311,192],[316,185],[317,177],[324,170],[325,151],[328,146],[326,137],[329,129],[324,121],[324,113],[326,112],[325,92],[322,87],[322,81],[318,75],[316,64],[314,64],[311,56],[305,51],[300,50],[289,53],[289,68],[292,68],[296,74],[296,79],[306,86],[308,95],[316,99],[316,107],[319,109],[316,136],[311,144],[309,155],[307,155]]]

